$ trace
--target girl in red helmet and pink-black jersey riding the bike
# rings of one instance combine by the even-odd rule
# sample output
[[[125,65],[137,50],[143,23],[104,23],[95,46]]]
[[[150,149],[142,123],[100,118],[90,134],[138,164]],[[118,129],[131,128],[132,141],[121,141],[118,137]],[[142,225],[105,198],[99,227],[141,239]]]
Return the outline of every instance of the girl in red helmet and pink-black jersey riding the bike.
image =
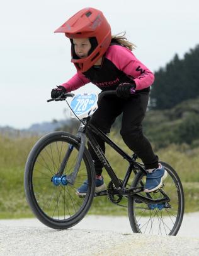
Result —
[[[64,33],[71,40],[71,62],[77,69],[69,81],[52,89],[51,97],[59,97],[63,92],[71,92],[86,83],[93,83],[101,90],[116,90],[117,95],[101,99],[91,123],[104,133],[109,133],[111,125],[120,114],[122,128],[120,134],[127,146],[145,164],[147,179],[145,192],[160,188],[167,171],[158,163],[151,143],[142,133],[149,100],[150,86],[154,82],[153,73],[135,58],[134,44],[124,36],[111,36],[111,28],[103,13],[94,8],[85,8],[69,18],[55,32]],[[97,137],[105,152],[105,143]],[[96,170],[96,192],[106,189],[103,181],[102,164],[88,143],[88,150]],[[78,195],[85,195],[88,181],[77,189]]]

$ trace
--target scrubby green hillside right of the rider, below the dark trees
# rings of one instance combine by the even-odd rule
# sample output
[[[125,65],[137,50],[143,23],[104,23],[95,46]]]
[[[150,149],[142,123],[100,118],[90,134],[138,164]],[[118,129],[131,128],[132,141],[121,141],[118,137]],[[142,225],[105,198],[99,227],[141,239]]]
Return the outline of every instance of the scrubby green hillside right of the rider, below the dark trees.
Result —
[[[158,148],[171,143],[199,145],[199,97],[172,109],[148,111],[143,126],[145,135]]]

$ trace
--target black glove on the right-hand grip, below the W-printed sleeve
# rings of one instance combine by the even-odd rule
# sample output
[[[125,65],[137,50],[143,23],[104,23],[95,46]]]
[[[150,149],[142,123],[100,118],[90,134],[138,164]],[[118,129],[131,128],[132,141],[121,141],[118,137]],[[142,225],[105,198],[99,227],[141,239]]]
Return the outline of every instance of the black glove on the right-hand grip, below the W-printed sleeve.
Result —
[[[135,83],[120,83],[116,88],[116,94],[122,99],[127,99],[130,95],[135,94]]]

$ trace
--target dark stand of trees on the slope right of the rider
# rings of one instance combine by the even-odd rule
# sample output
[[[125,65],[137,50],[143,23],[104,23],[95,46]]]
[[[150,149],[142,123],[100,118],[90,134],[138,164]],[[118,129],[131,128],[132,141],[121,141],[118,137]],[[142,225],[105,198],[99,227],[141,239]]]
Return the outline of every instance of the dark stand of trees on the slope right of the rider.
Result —
[[[154,73],[151,87],[151,109],[171,109],[187,99],[199,96],[199,44],[190,49],[183,59],[178,54]]]

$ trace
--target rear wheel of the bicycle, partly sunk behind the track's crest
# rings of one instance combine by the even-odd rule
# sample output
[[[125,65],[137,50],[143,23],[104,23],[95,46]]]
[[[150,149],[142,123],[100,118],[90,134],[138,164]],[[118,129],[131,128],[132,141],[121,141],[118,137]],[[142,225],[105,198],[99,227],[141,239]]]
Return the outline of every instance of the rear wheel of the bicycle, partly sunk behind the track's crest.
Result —
[[[162,166],[168,171],[168,176],[164,180],[162,190],[170,198],[169,203],[146,204],[134,197],[128,198],[128,217],[130,226],[135,233],[144,233],[147,235],[176,235],[183,221],[185,199],[183,186],[179,180],[178,174],[174,169],[161,162]],[[142,171],[137,173],[132,186],[145,185],[146,176]],[[154,199],[161,198],[161,192],[144,193],[144,197]]]

